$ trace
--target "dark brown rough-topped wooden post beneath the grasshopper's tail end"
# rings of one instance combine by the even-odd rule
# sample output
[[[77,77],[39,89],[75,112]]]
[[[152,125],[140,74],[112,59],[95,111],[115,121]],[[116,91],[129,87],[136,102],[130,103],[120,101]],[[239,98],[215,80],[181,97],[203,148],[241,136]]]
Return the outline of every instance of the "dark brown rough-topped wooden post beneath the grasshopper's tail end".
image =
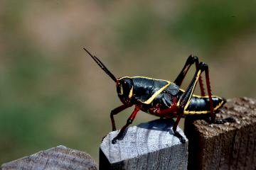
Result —
[[[256,100],[233,98],[219,112],[218,118],[237,122],[210,125],[186,118],[188,169],[256,169]]]

